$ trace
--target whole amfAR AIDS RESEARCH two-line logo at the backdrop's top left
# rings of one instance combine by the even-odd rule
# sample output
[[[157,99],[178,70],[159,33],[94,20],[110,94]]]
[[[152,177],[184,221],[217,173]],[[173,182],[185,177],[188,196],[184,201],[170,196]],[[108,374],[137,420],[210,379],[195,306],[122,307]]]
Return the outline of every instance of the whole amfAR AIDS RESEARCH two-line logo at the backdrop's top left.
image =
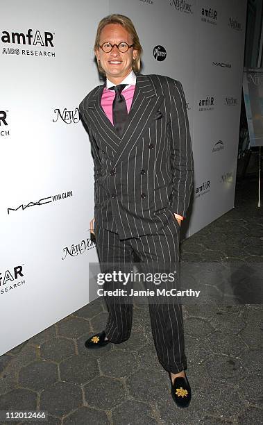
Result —
[[[4,30],[0,33],[1,53],[5,55],[41,56],[55,58],[54,33],[33,30],[26,32]]]

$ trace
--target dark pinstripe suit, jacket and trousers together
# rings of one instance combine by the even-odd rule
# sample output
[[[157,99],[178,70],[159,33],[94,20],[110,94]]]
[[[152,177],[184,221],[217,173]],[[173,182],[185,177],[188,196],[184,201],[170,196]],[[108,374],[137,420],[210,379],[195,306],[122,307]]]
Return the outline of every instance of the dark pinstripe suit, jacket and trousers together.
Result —
[[[121,265],[133,253],[145,265],[178,265],[180,226],[192,192],[193,159],[185,95],[179,81],[136,73],[133,103],[120,138],[101,108],[105,85],[80,103],[94,157],[95,233],[99,260]],[[165,263],[165,265],[164,265]],[[106,335],[121,342],[130,335],[132,306],[105,298]],[[169,372],[186,368],[183,319],[178,301],[150,305],[160,363]],[[125,318],[125,320],[124,320]]]

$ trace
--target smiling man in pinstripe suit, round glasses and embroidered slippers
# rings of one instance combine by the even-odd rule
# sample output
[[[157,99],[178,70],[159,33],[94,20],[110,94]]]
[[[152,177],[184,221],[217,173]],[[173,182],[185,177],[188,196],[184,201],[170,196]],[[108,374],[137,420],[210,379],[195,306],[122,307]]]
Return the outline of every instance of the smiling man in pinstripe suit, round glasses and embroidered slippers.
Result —
[[[133,23],[124,15],[101,20],[94,52],[107,80],[83,99],[80,115],[94,157],[91,228],[101,268],[113,272],[119,265],[121,269],[136,254],[144,270],[167,271],[167,266],[174,270],[193,178],[182,85],[166,76],[139,74],[142,47]],[[114,289],[113,280],[107,288]],[[112,301],[107,294],[105,301],[108,323],[105,331],[85,342],[88,349],[121,343],[130,336],[132,304],[125,297]],[[162,299],[151,301],[149,311],[158,358],[170,374],[173,400],[186,407],[191,388],[185,375],[181,306],[177,299]]]

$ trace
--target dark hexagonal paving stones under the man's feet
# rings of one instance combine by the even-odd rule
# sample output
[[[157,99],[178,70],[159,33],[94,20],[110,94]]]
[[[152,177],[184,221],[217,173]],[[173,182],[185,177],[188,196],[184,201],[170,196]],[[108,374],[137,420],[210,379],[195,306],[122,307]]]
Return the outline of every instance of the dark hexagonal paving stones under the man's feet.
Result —
[[[239,185],[236,208],[185,240],[182,262],[260,264],[263,217],[256,190],[255,181]],[[262,306],[255,299],[183,310],[189,408],[171,399],[146,306],[135,306],[128,341],[85,349],[86,338],[105,326],[105,304],[98,299],[0,357],[0,410],[49,412],[47,422],[20,424],[262,423]]]

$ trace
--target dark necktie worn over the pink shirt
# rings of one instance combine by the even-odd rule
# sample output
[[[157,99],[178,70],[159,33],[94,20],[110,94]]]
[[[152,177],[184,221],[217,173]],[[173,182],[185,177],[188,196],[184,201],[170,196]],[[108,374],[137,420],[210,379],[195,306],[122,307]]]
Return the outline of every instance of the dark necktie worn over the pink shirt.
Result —
[[[118,84],[110,87],[110,90],[114,90],[115,97],[112,103],[112,117],[113,125],[117,133],[121,136],[124,133],[124,127],[128,117],[128,111],[126,106],[126,100],[121,91],[124,90],[128,84]]]

